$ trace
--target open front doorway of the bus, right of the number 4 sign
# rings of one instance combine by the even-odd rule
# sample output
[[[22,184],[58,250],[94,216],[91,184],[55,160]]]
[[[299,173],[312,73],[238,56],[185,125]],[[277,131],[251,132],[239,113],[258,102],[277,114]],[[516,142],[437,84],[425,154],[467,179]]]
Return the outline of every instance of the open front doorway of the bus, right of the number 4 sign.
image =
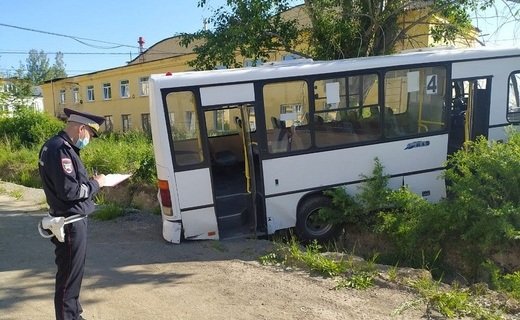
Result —
[[[462,148],[466,141],[488,137],[491,78],[454,80],[452,91],[448,154]]]

